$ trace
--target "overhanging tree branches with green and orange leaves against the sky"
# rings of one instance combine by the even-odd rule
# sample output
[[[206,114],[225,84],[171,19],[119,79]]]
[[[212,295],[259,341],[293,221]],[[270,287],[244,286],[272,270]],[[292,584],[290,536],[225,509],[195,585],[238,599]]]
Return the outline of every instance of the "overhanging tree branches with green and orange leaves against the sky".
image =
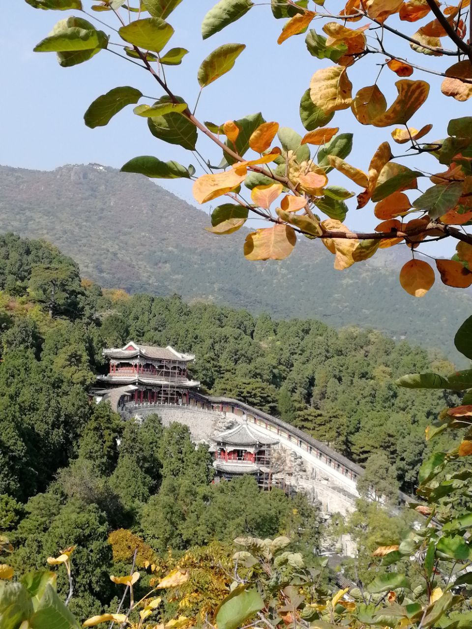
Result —
[[[26,2],[42,9],[82,9],[82,3],[77,0]],[[472,173],[470,119],[451,120],[445,139],[420,142],[432,125],[424,125],[418,131],[407,124],[427,100],[430,86],[426,81],[403,78],[412,75],[415,69],[424,68],[423,63],[417,65],[416,60],[410,60],[410,54],[408,60],[404,58],[400,46],[402,40],[407,40],[417,54],[454,57],[454,63],[445,72],[435,67],[427,67],[425,71],[444,77],[442,94],[458,101],[468,100],[472,95],[469,89],[472,45],[466,39],[462,5],[442,11],[435,0],[422,0],[419,4],[402,4],[400,0],[389,3],[385,0],[369,0],[367,3],[349,0],[340,12],[334,8],[334,11],[321,13],[314,10],[315,6],[309,7],[308,0],[271,2],[274,18],[289,18],[277,40],[279,45],[292,36],[305,33],[315,18],[323,20],[323,32],[327,35],[325,38],[311,29],[305,39],[308,53],[318,59],[328,59],[330,65],[315,71],[310,86],[301,97],[300,118],[307,131],[302,137],[276,121],[266,122],[261,113],[237,121],[228,120],[224,125],[203,123],[196,118],[196,107],[189,106],[188,96],[177,96],[172,91],[164,71],[166,65],[179,65],[188,51],[172,48],[163,52],[174,29],[167,22],[155,21],[167,19],[178,4],[177,1],[169,6],[152,1],[140,4],[139,11],[132,13],[120,1],[114,5],[106,2],[99,10],[110,12],[108,17],[114,20],[118,30],[108,26],[102,19],[106,17],[103,14],[99,19],[87,13],[90,19],[97,19],[98,28],[81,17],[72,16],[61,21],[53,34],[35,47],[36,52],[57,52],[60,65],[69,67],[86,62],[107,49],[110,30],[117,30],[121,39],[119,45],[123,47],[121,56],[149,72],[150,80],[157,82],[160,88],[161,93],[154,104],[142,102],[133,110],[147,119],[152,135],[164,142],[178,144],[189,152],[196,149],[199,136],[206,136],[223,152],[218,167],[210,166],[214,160],[205,164],[199,160],[198,177],[193,165],[187,168],[175,161],[166,162],[149,156],[131,159],[121,170],[154,178],[192,179],[193,194],[198,203],[227,195],[228,203],[215,208],[211,215],[209,230],[218,235],[238,230],[254,216],[271,223],[272,226],[247,235],[244,255],[249,260],[284,259],[295,247],[297,236],[303,235],[322,240],[335,255],[335,269],[342,270],[368,259],[379,248],[404,243],[412,250],[412,259],[402,267],[400,284],[410,294],[421,297],[434,283],[435,275],[427,262],[413,257],[413,249],[422,241],[452,238],[457,241],[452,260],[436,259],[441,280],[454,287],[472,284],[472,271],[468,268],[472,259],[472,235],[454,226],[466,225],[472,218],[468,181]],[[220,0],[203,19],[203,38],[223,30],[254,6],[250,0]],[[254,11],[250,11],[250,16],[254,16]],[[420,19],[425,19],[425,23],[411,36],[410,30],[403,28],[403,21]],[[359,20],[362,24],[351,28]],[[102,26],[107,32],[98,30]],[[70,31],[70,28],[81,31]],[[452,50],[442,44],[441,38],[448,39]],[[231,70],[244,49],[244,43],[228,43],[213,50],[199,67],[200,88],[205,89]],[[352,65],[368,63],[376,55],[383,59],[380,72],[386,69],[386,74],[392,72],[402,77],[395,84],[398,96],[390,107],[387,107],[377,82],[352,94],[349,79]],[[296,62],[299,63],[298,58]],[[275,68],[273,72],[276,77]],[[371,72],[364,70],[364,74]],[[106,125],[120,109],[145,98],[134,87],[116,87],[89,106],[84,115],[85,123],[91,128]],[[410,201],[403,191],[415,189],[418,179],[426,173],[418,165],[408,168],[394,161],[388,142],[379,145],[366,172],[362,170],[364,164],[348,164],[346,157],[351,152],[352,134],[339,134],[339,128],[325,125],[331,122],[336,111],[349,108],[359,123],[374,129],[405,126],[393,129],[393,141],[409,143],[408,155],[414,157],[427,153],[442,165],[432,165],[430,170],[444,167],[446,170],[431,175],[433,185]],[[280,147],[273,145],[276,135]],[[314,155],[311,146],[317,147]],[[249,148],[252,153],[246,155]],[[271,163],[271,167],[267,166]],[[342,223],[349,209],[345,201],[354,193],[329,185],[327,175],[332,169],[360,188],[357,208],[363,208],[369,201],[376,203],[374,214],[381,222],[372,233],[351,230]],[[240,193],[243,183],[250,190],[252,203]],[[284,197],[273,211],[271,204],[281,194]],[[405,222],[403,217],[410,214],[410,210],[419,214]],[[58,299],[56,292],[61,291],[57,277],[52,278],[48,267],[38,268],[37,280],[33,284],[37,285],[38,294],[52,314]]]

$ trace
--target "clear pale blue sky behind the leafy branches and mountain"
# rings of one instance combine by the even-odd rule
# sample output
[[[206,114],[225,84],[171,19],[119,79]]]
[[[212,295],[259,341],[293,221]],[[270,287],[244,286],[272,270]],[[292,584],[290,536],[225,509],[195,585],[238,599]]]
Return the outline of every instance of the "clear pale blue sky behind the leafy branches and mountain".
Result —
[[[88,10],[90,0],[83,1]],[[327,5],[330,2],[327,0]],[[184,47],[190,51],[183,64],[166,69],[172,91],[193,106],[199,92],[196,75],[201,61],[223,43],[245,43],[247,48],[234,69],[203,90],[197,117],[222,124],[226,120],[237,120],[246,114],[262,111],[267,121],[275,120],[281,126],[291,126],[303,135],[305,131],[298,116],[300,98],[309,87],[312,74],[321,67],[332,65],[332,62],[311,57],[303,42],[304,35],[278,45],[276,40],[283,20],[273,18],[267,0],[261,6],[255,6],[237,23],[204,42],[200,25],[213,4],[215,0],[183,0],[167,18],[176,31],[168,48]],[[333,10],[339,10],[339,6],[336,3]],[[315,8],[314,4],[312,8]],[[113,21],[115,16],[111,13],[90,13],[115,28],[119,26]],[[193,163],[197,166],[193,156],[183,148],[161,142],[150,135],[147,121],[135,116],[132,107],[117,114],[108,126],[91,130],[84,125],[83,114],[89,104],[113,87],[130,85],[155,98],[162,96],[162,91],[148,72],[108,51],[102,51],[90,61],[72,68],[60,67],[54,53],[33,53],[35,44],[48,34],[53,25],[70,14],[74,11],[33,9],[24,0],[15,0],[4,13],[0,34],[0,58],[3,59],[0,65],[3,88],[0,97],[0,164],[51,170],[64,164],[96,162],[120,168],[132,157],[155,155],[161,160],[175,159],[184,165]],[[323,23],[322,19],[315,19],[312,28],[322,33]],[[352,28],[357,25],[352,25]],[[112,30],[97,26],[112,33],[111,42],[120,41]],[[404,22],[401,26],[411,34],[417,28],[415,24]],[[370,40],[370,43],[374,45],[375,42]],[[400,51],[412,62],[439,71],[444,71],[454,62],[453,57],[438,58],[413,53],[408,43],[394,36],[385,38],[385,46],[389,52]],[[111,48],[118,50],[117,47]],[[373,84],[379,70],[376,64],[383,60],[383,55],[368,55],[348,71],[354,86],[353,94],[360,87]],[[427,140],[444,137],[450,118],[468,115],[470,108],[467,103],[458,103],[441,94],[441,77],[415,70],[410,78],[431,82],[429,99],[410,121],[410,126],[415,128],[432,123],[433,130]],[[398,77],[389,69],[384,69],[378,80],[389,105],[395,98],[396,80]],[[354,149],[347,161],[364,170],[368,169],[369,160],[378,145],[385,140],[391,141],[390,131],[393,130],[359,125],[349,109],[337,112],[329,126],[339,126],[340,132],[354,133]],[[200,138],[198,147],[212,163],[220,161],[220,150],[207,138]],[[396,145],[391,141],[391,147],[394,155],[402,155],[408,145]],[[419,166],[428,172],[444,170],[429,156],[398,161],[412,168]],[[179,197],[196,204],[188,180],[158,182]],[[356,184],[336,172],[330,174],[330,183],[342,184],[356,194],[360,191]],[[424,190],[429,185],[428,179],[419,180],[420,189]],[[419,193],[410,194],[411,199],[416,196]],[[352,203],[345,221],[351,228],[370,230],[378,223],[369,207],[360,211],[354,207],[355,203]],[[442,250],[447,252],[447,247],[442,245]]]

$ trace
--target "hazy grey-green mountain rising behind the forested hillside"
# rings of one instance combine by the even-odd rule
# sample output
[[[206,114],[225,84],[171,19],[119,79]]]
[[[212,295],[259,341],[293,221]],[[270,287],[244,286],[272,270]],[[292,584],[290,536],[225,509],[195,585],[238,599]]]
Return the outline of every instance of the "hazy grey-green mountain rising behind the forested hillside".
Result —
[[[406,248],[339,272],[320,243],[301,238],[287,260],[249,262],[244,229],[208,233],[201,210],[141,175],[98,164],[0,166],[0,216],[1,231],[52,242],[79,262],[82,276],[105,287],[373,327],[452,359],[454,331],[472,312],[471,296],[439,281],[422,299],[404,292],[398,272]]]

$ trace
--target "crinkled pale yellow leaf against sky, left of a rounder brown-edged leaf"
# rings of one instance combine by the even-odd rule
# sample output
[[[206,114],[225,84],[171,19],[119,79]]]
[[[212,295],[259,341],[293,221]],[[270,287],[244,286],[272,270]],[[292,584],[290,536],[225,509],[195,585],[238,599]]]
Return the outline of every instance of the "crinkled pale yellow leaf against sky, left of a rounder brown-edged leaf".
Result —
[[[352,83],[346,68],[333,65],[317,70],[310,82],[310,98],[323,113],[347,109],[352,103]]]

